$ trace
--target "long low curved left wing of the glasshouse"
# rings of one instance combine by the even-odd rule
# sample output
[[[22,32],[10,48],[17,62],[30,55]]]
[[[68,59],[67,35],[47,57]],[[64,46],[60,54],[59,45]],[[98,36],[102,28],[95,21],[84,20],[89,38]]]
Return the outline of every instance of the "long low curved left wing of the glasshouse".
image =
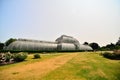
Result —
[[[17,50],[17,51],[51,51],[56,50],[56,43],[47,42],[31,42],[31,41],[15,41],[7,46],[6,50]]]

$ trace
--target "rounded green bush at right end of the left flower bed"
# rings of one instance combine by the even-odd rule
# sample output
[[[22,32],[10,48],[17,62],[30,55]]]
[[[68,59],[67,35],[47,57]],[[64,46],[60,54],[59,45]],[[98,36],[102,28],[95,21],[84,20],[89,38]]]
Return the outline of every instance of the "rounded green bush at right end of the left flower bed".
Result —
[[[27,53],[20,52],[14,54],[14,61],[16,62],[24,61],[26,58],[27,58]]]

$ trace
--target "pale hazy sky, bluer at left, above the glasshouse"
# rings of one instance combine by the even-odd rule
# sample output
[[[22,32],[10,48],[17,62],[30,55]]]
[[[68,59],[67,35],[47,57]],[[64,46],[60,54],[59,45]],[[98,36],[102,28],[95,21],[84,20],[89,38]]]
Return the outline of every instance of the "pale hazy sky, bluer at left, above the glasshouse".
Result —
[[[120,37],[120,0],[0,0],[0,42],[73,36],[100,46]]]

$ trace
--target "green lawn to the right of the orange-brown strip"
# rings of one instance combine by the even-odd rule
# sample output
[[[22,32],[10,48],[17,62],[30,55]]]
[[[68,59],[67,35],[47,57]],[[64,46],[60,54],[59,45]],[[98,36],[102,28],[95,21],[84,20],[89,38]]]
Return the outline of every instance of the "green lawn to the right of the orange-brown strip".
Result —
[[[120,80],[120,60],[109,60],[99,53],[80,53],[42,80]]]

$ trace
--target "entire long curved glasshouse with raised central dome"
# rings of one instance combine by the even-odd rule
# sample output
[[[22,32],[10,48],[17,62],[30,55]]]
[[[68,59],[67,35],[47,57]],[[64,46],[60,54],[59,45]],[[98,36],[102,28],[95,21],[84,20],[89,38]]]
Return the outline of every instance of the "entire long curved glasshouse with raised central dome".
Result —
[[[29,39],[17,39],[4,47],[9,51],[83,51],[92,50],[88,45],[80,44],[71,36],[62,35],[55,42]]]

